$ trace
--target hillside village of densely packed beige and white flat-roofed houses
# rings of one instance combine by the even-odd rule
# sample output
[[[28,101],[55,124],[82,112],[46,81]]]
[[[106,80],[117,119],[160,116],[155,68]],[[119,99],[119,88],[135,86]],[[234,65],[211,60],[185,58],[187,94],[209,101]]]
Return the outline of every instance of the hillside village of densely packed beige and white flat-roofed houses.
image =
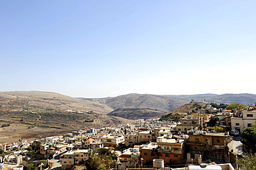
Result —
[[[235,158],[243,154],[243,147],[237,149],[241,145],[239,134],[255,124],[256,106],[231,111],[208,105],[183,116],[178,122],[140,119],[133,124],[91,127],[60,136],[0,144],[1,169],[53,169],[56,163],[52,161],[57,158],[62,169],[73,169],[75,165],[90,165],[95,155],[102,154],[111,156],[109,163],[104,162],[106,169],[150,169],[156,160],[163,160],[169,169],[202,163],[232,169],[237,166]],[[215,128],[208,127],[211,117],[218,117]],[[39,164],[40,160],[47,162]],[[31,164],[37,167],[32,168]]]

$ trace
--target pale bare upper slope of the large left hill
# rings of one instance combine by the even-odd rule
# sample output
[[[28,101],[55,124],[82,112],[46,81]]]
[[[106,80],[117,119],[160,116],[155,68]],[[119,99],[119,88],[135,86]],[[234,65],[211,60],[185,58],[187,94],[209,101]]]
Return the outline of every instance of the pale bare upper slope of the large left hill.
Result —
[[[10,91],[0,92],[0,106],[35,106],[47,109],[70,109],[76,111],[93,111],[107,114],[113,111],[107,105],[89,100],[80,100],[59,93],[42,91]]]

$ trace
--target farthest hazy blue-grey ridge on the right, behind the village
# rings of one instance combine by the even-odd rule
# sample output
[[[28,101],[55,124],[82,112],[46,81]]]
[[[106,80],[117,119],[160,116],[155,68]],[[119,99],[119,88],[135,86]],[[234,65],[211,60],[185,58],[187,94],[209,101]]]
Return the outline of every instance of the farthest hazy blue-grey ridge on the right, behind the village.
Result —
[[[255,104],[256,95],[249,93],[241,93],[241,94],[201,94],[201,95],[170,95],[174,97],[183,97],[186,99],[203,102],[205,100],[206,103],[223,103],[230,104],[232,102],[238,102],[241,104]]]

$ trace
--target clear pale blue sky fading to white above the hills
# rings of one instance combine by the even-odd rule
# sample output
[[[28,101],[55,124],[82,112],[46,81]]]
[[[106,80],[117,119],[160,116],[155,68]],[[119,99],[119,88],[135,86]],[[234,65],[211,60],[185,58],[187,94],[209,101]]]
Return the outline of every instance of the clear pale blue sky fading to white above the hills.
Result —
[[[256,94],[256,1],[0,1],[0,91]]]

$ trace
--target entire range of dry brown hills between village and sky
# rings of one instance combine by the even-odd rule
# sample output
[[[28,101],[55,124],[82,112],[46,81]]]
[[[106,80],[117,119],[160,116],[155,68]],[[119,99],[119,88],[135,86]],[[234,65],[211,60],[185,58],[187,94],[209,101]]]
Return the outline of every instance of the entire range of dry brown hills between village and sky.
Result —
[[[191,100],[205,100],[205,103]],[[0,125],[10,124],[10,131],[5,128],[0,131],[10,139],[42,138],[77,129],[128,123],[139,118],[147,119],[161,115],[166,118],[172,114],[178,114],[174,117],[179,117],[179,113],[188,113],[198,105],[210,102],[254,104],[256,95],[128,94],[87,99],[42,91],[0,92]],[[8,140],[9,137],[4,139]],[[4,139],[0,138],[1,141]]]

